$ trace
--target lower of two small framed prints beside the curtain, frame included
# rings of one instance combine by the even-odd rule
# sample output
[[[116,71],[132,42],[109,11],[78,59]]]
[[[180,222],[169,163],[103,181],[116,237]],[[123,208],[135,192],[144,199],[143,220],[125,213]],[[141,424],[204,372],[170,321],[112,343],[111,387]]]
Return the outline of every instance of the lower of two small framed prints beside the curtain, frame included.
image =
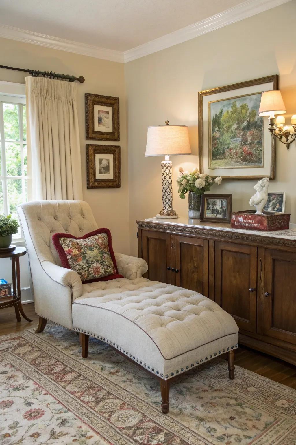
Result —
[[[87,144],[87,188],[120,187],[120,146]]]

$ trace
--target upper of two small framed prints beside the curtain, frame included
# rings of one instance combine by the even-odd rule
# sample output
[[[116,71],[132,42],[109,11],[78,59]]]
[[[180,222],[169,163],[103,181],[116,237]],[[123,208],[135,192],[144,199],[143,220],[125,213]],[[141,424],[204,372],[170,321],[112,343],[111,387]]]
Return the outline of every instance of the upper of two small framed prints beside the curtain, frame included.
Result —
[[[85,94],[87,139],[119,141],[119,97]]]

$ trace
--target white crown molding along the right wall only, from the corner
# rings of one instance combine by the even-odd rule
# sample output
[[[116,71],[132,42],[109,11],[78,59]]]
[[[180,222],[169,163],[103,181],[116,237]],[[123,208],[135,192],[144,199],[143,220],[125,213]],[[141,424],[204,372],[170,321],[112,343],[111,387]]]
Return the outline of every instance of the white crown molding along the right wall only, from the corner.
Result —
[[[260,12],[275,8],[276,6],[288,3],[289,1],[291,0],[246,0],[244,3],[229,8],[215,16],[211,16],[205,20],[193,23],[185,28],[178,29],[170,34],[159,37],[158,39],[151,40],[148,43],[144,43],[125,51],[124,62],[130,62],[139,59],[140,57],[161,51],[162,49],[170,48],[170,46],[177,45],[215,29],[255,16]]]

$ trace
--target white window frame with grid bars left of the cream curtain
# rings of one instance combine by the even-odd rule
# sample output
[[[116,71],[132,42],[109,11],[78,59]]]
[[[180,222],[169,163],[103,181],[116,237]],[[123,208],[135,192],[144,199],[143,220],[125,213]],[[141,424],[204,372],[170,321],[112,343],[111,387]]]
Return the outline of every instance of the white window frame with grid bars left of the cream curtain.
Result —
[[[18,104],[19,106],[19,125],[20,125],[20,141],[5,141],[4,136],[4,116],[3,116],[3,102]],[[8,192],[7,192],[7,181],[9,179],[21,179],[22,180],[22,190],[23,190],[23,200],[25,201],[25,181],[27,176],[24,174],[24,154],[23,148],[23,105],[26,104],[26,87],[24,84],[18,84],[14,82],[0,81],[0,141],[1,141],[1,164],[2,172],[0,172],[0,181],[2,182],[3,188],[3,206],[4,214],[9,213],[8,205]],[[22,160],[22,175],[21,176],[7,176],[6,171],[6,155],[5,155],[5,142],[16,142],[20,144],[20,156]],[[4,173],[4,174],[3,174]],[[3,174],[3,176],[1,176]],[[13,243],[22,244],[24,239],[15,235],[13,237]]]

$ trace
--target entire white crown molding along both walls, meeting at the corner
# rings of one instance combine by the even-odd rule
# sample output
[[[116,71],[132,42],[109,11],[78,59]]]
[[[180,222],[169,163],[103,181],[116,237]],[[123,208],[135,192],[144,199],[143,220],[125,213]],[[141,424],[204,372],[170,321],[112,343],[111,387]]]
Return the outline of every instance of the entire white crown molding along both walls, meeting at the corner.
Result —
[[[81,54],[83,56],[95,57],[113,62],[126,63],[147,56],[152,53],[170,48],[170,46],[185,42],[201,36],[207,32],[222,28],[239,20],[275,8],[292,0],[246,0],[233,8],[208,17],[185,28],[166,34],[158,39],[151,40],[127,51],[115,51],[113,49],[100,48],[95,45],[87,45],[73,40],[60,39],[59,37],[47,36],[37,32],[26,31],[8,25],[0,24],[0,37],[19,40],[21,42],[46,46],[47,48],[59,49],[69,53]]]

